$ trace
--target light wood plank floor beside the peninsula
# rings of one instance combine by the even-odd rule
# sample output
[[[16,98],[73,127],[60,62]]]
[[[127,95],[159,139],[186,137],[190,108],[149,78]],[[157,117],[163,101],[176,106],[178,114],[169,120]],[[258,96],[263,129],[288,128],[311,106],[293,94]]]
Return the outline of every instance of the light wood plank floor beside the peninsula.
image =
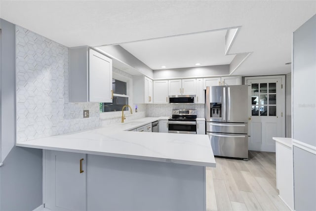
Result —
[[[249,161],[215,158],[206,168],[207,211],[289,211],[276,189],[276,154],[249,151]]]

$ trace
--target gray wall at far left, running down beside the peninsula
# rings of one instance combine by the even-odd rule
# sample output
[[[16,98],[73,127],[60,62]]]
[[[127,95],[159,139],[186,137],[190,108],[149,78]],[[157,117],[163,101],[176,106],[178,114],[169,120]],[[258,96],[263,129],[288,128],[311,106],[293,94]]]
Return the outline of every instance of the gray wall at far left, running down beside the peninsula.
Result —
[[[1,25],[0,210],[29,211],[42,204],[42,157],[39,149],[15,147],[15,26]]]

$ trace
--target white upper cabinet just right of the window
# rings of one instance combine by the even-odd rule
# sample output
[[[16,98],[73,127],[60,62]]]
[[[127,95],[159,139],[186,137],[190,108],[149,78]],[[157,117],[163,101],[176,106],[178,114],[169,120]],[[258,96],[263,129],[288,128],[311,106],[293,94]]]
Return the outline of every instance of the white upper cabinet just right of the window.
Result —
[[[153,80],[146,76],[133,77],[134,103],[153,103]]]

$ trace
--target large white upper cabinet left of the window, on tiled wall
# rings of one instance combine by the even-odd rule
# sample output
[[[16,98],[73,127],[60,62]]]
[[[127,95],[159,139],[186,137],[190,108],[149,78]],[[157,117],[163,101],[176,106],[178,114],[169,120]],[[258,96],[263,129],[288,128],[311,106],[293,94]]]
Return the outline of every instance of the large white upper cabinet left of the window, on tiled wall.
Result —
[[[112,102],[112,59],[88,46],[69,48],[69,101]]]

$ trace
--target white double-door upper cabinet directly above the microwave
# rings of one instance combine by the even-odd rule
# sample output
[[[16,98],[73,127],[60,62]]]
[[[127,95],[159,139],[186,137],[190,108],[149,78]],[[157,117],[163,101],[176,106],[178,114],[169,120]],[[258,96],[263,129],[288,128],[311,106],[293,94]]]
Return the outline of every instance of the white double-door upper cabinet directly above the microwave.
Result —
[[[169,95],[192,95],[196,94],[196,79],[168,80]]]

